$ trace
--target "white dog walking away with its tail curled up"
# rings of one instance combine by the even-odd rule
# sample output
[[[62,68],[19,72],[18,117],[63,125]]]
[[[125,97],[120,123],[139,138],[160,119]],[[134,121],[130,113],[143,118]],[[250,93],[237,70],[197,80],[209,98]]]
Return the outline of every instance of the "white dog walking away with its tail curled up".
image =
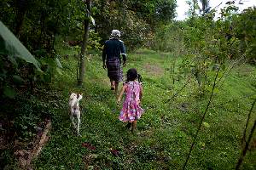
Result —
[[[77,128],[78,135],[80,135],[79,126],[80,126],[80,116],[81,116],[81,111],[80,111],[80,108],[79,108],[79,101],[82,98],[83,98],[82,94],[72,93],[70,95],[69,102],[68,102],[69,109],[70,109],[70,119],[73,123],[73,127]],[[77,127],[76,127],[75,123],[73,122],[74,117],[77,117],[77,119],[78,119],[78,126]]]

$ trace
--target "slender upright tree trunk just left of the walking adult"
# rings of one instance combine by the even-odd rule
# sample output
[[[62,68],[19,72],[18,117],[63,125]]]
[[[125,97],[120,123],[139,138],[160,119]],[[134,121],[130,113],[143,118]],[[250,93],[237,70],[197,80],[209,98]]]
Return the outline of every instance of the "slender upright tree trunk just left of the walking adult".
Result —
[[[85,63],[84,63],[84,55],[86,52],[87,44],[88,44],[88,37],[89,37],[89,23],[90,23],[90,0],[86,0],[86,6],[87,6],[87,17],[84,20],[84,36],[83,36],[83,42],[81,46],[81,53],[80,53],[80,62],[79,62],[79,80],[78,80],[78,86],[81,87],[84,82],[84,70],[85,70]]]

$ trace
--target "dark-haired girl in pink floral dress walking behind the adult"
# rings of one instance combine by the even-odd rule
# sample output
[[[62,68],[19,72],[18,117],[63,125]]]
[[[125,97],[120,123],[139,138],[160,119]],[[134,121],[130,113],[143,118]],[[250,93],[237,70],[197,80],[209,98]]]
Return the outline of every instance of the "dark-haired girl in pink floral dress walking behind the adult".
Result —
[[[129,69],[127,71],[127,82],[125,82],[118,99],[119,104],[123,94],[125,93],[125,101],[123,108],[120,111],[119,120],[122,122],[128,122],[127,127],[131,127],[132,132],[136,128],[137,120],[143,114],[143,109],[140,106],[143,96],[143,88],[140,81],[141,76],[137,74],[137,70]]]

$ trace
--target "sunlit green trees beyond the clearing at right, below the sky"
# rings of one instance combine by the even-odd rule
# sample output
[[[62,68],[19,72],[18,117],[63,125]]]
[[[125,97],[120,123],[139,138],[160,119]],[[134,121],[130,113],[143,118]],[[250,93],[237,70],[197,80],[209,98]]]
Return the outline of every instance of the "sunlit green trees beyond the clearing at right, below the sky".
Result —
[[[193,2],[189,4],[193,10]],[[204,59],[213,59],[218,63],[241,57],[256,63],[253,56],[256,53],[253,45],[256,41],[253,36],[256,35],[256,29],[253,29],[256,26],[256,8],[247,8],[237,14],[237,7],[230,3],[221,9],[218,20],[213,20],[215,13],[213,10],[207,11],[207,4],[204,2],[204,15],[191,13],[188,20],[172,22],[158,29],[152,47],[173,52],[185,45],[189,54],[201,55]]]

